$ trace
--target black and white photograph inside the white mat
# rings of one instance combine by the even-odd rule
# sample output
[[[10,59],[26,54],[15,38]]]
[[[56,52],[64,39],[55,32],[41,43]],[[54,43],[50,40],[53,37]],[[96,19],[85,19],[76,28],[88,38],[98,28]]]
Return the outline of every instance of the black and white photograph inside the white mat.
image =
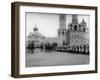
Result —
[[[90,15],[25,13],[25,66],[90,63]]]

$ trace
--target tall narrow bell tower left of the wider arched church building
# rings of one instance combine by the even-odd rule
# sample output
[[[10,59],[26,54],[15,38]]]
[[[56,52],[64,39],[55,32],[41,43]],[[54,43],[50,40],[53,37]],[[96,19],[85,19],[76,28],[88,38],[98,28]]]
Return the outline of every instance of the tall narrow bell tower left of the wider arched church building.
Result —
[[[66,29],[66,14],[59,15],[59,29],[58,29],[58,40],[59,45],[66,45],[68,43],[68,31]]]

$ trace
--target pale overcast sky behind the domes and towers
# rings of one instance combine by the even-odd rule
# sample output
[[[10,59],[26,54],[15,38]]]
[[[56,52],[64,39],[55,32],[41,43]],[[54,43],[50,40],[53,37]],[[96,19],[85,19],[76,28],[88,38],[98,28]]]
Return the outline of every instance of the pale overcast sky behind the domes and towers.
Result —
[[[90,18],[86,15],[78,15],[78,22],[85,20],[89,27]],[[71,23],[72,15],[66,14],[66,29],[68,23]],[[59,29],[59,14],[46,13],[26,13],[26,36],[33,32],[33,28],[37,25],[38,32],[46,37],[56,37],[57,29]]]

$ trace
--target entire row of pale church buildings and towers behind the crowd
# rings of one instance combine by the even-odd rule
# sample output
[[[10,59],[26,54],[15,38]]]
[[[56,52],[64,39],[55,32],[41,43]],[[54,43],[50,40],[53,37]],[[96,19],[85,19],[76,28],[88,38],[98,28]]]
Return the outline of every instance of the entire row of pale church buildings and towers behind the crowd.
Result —
[[[66,29],[68,27],[68,29]],[[27,42],[34,41],[36,45],[41,43],[57,43],[60,46],[82,46],[89,45],[89,29],[83,19],[81,23],[78,22],[78,15],[72,15],[72,21],[66,25],[66,14],[59,15],[59,29],[56,37],[47,38],[38,32],[35,25],[33,33],[27,37]]]

